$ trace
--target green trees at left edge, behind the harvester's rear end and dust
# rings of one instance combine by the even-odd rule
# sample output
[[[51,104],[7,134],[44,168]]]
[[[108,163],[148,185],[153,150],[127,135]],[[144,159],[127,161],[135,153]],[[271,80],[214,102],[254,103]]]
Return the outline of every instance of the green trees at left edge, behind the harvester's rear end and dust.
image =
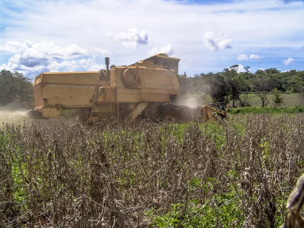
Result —
[[[33,101],[33,89],[30,80],[22,73],[10,70],[0,71],[0,106],[12,102]]]

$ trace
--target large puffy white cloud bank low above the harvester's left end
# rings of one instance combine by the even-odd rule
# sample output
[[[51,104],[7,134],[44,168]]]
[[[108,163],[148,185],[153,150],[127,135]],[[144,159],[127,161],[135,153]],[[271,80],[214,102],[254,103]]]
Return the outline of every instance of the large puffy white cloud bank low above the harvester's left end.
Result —
[[[0,46],[0,52],[13,54],[8,63],[2,64],[0,69],[18,70],[26,75],[42,71],[75,71],[82,68],[99,70],[102,65],[96,63],[96,56],[111,55],[109,51],[99,48],[89,52],[75,44],[61,48],[53,42],[33,44],[30,41],[9,41]]]

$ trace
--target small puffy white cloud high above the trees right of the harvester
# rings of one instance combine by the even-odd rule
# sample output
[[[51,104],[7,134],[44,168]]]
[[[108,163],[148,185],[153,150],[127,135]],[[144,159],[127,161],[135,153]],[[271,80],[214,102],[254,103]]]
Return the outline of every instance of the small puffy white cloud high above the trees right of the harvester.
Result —
[[[204,34],[205,46],[211,51],[232,48],[232,39],[230,34],[226,32],[205,32]]]

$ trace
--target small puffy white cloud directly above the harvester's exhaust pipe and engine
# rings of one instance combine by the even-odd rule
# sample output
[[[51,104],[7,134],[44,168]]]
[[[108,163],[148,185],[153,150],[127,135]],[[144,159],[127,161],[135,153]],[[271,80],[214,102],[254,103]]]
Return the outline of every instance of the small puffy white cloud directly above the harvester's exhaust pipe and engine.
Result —
[[[136,28],[128,29],[128,31],[122,31],[119,33],[109,32],[107,37],[114,39],[115,41],[121,43],[127,48],[133,48],[140,45],[148,44],[148,34],[146,31],[142,30],[139,32]]]

